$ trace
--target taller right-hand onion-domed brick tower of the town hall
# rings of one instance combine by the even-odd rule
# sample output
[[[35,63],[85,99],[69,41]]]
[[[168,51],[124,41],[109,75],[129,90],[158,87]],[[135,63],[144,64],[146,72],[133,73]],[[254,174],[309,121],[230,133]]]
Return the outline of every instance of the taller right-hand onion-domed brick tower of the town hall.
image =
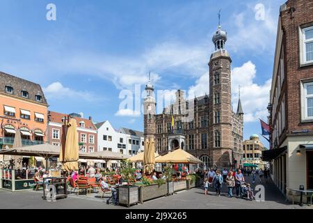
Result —
[[[215,31],[212,41],[215,51],[209,61],[209,148],[212,163],[217,167],[232,167],[232,94],[230,64],[232,59],[225,49],[227,32]]]

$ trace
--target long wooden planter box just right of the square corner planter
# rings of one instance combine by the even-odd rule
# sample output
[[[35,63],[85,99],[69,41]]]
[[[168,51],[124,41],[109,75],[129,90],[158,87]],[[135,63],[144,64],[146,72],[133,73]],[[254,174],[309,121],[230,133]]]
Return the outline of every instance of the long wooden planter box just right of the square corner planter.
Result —
[[[167,187],[166,183],[162,185],[148,185],[139,187],[139,201],[143,203],[143,201],[148,201],[150,199],[154,199],[157,197],[166,196]]]

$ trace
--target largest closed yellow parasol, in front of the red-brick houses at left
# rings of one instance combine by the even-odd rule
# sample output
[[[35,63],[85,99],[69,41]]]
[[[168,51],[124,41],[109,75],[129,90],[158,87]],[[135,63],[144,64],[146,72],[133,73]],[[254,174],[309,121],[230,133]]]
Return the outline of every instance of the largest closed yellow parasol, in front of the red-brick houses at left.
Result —
[[[79,141],[76,120],[72,118],[67,126],[65,149],[63,151],[61,148],[60,160],[63,163],[63,169],[67,171],[78,170]]]

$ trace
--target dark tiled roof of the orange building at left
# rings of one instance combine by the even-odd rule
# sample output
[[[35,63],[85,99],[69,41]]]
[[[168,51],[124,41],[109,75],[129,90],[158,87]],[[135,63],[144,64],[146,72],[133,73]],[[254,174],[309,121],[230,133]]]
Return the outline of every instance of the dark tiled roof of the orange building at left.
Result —
[[[42,105],[47,105],[47,100],[39,84],[35,84],[26,79],[9,75],[5,72],[0,72],[0,94],[21,98],[23,100],[31,100]],[[6,93],[6,86],[13,87],[13,94]],[[22,91],[29,93],[29,98],[22,97]],[[35,95],[42,96],[42,101],[38,102]]]

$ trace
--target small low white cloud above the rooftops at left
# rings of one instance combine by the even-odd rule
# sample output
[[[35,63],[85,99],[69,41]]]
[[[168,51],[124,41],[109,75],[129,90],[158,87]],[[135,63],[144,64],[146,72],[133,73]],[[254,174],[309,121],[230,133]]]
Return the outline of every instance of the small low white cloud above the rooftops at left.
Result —
[[[75,91],[67,88],[61,82],[54,82],[47,87],[42,88],[48,99],[77,99],[77,100],[97,100],[98,98],[88,91]]]

